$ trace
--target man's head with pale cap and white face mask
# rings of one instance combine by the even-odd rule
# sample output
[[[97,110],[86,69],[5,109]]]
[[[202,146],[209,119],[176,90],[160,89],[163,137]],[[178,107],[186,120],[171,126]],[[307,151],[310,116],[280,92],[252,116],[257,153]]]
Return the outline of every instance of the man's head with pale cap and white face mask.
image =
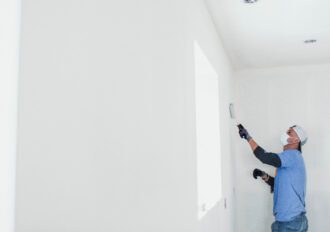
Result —
[[[300,126],[294,125],[290,127],[285,134],[281,136],[281,143],[284,149],[298,149],[307,142],[307,134]]]

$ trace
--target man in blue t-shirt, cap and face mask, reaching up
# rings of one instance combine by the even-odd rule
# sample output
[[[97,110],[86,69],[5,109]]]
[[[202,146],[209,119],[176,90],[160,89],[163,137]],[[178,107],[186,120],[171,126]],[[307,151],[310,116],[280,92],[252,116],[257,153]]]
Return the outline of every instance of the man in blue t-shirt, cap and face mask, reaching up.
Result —
[[[277,168],[274,177],[259,169],[255,169],[253,176],[261,176],[274,191],[273,213],[275,222],[272,232],[308,230],[306,218],[306,171],[301,147],[307,141],[307,134],[300,126],[290,127],[280,141],[283,152],[279,154],[265,152],[249,135],[248,131],[240,124],[239,135],[248,141],[255,156],[262,162]]]

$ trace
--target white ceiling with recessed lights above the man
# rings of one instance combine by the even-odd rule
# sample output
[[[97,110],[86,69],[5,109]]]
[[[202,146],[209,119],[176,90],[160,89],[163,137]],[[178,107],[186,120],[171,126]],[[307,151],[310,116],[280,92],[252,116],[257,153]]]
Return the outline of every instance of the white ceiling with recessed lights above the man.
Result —
[[[330,63],[330,0],[205,1],[236,70]]]

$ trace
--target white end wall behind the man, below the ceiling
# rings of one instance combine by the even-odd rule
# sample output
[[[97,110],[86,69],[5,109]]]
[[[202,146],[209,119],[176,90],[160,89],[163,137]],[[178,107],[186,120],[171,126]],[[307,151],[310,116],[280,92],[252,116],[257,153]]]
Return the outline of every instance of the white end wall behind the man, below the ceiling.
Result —
[[[330,188],[330,65],[245,70],[235,74],[237,117],[268,151],[280,152],[279,136],[294,124],[304,127],[309,141],[303,147],[307,168],[307,217],[310,231],[329,231]],[[274,174],[259,162],[246,142],[235,138],[236,231],[269,231],[272,195],[254,168]]]

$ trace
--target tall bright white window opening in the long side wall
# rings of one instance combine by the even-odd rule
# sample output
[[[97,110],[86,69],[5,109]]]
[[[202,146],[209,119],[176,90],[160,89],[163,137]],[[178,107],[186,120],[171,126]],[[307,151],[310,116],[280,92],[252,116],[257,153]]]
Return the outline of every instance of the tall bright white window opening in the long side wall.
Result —
[[[222,197],[218,75],[195,41],[198,218]]]

